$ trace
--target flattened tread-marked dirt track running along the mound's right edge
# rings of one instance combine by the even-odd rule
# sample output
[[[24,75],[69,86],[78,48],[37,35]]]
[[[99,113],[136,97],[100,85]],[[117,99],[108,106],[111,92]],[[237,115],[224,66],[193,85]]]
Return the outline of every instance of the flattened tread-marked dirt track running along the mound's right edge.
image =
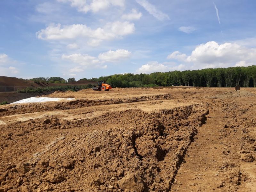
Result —
[[[221,191],[216,185],[224,179],[219,167],[224,159],[219,139],[223,116],[217,108],[210,109],[209,114],[185,155],[172,191]]]

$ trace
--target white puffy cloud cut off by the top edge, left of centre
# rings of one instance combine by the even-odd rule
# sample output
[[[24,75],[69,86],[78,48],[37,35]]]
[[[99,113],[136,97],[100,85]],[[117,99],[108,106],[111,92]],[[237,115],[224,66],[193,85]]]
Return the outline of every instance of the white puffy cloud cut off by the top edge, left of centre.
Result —
[[[110,6],[119,6],[123,7],[125,0],[91,0],[90,3],[87,3],[86,0],[57,0],[62,3],[70,3],[72,7],[76,7],[77,11],[85,12],[99,12],[101,10],[108,9]]]

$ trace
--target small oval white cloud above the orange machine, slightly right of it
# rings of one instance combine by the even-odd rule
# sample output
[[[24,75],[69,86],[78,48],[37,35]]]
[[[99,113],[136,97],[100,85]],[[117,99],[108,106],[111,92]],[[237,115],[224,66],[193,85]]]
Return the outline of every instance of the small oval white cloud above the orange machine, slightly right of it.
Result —
[[[131,52],[124,50],[124,49],[118,49],[116,51],[108,51],[104,53],[100,53],[98,58],[103,61],[109,61],[109,62],[116,62],[119,60],[127,59],[131,56]]]

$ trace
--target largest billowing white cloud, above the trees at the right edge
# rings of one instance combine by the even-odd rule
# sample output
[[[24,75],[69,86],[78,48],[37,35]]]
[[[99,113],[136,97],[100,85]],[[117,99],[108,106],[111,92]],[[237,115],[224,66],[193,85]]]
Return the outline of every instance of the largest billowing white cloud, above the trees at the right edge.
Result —
[[[256,48],[247,48],[236,43],[218,44],[210,41],[198,45],[189,56],[176,51],[167,58],[191,63],[192,68],[249,66],[256,60]]]

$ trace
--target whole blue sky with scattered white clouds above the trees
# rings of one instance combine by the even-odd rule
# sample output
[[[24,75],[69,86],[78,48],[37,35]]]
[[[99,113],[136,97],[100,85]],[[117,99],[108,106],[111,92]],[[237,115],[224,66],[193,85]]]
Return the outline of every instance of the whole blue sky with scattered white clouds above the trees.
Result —
[[[255,0],[1,0],[0,76],[250,66]]]

